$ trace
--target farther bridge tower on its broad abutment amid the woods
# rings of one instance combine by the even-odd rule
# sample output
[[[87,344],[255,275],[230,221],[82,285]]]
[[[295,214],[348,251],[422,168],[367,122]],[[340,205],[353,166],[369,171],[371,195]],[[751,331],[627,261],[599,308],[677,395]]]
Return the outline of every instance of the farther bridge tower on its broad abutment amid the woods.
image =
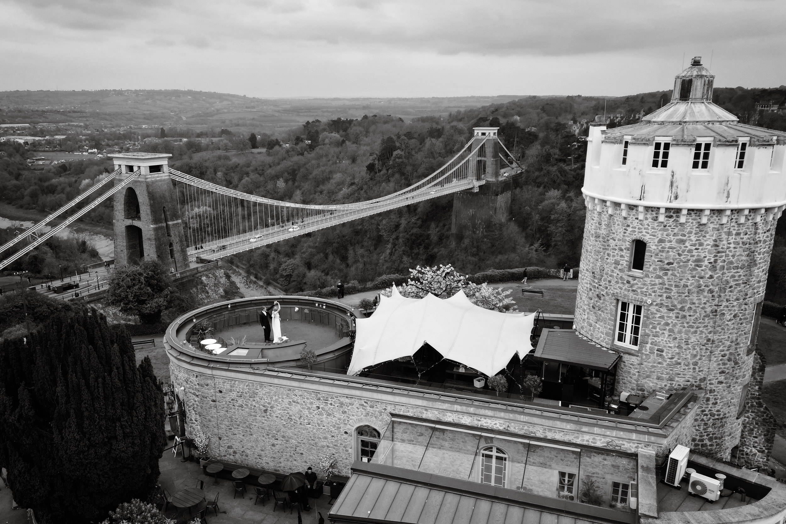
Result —
[[[486,183],[475,192],[462,191],[454,195],[450,230],[454,240],[461,240],[467,230],[478,231],[493,222],[508,220],[512,181],[500,174],[498,130],[498,127],[474,128],[472,148],[479,147],[476,178]]]

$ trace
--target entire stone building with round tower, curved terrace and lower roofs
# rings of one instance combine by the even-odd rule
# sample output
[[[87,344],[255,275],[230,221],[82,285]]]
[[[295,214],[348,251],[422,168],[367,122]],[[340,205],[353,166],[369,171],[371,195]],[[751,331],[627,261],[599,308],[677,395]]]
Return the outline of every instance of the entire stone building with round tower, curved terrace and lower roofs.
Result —
[[[249,478],[317,469],[334,456],[347,485],[332,522],[781,524],[786,486],[716,459],[739,445],[736,459],[762,464],[772,443],[755,335],[786,205],[786,135],[737,123],[712,104],[712,79],[694,60],[671,104],[634,126],[590,130],[575,331],[549,320],[534,359],[549,361],[558,383],[593,387],[596,405],[495,394],[463,365],[446,372],[474,372],[468,387],[426,382],[414,357],[389,375],[347,376],[343,329],[308,364],[295,349],[303,341],[201,348],[200,326],[228,329],[219,338],[227,326],[248,333],[274,299],[298,325],[351,326],[362,314],[259,297],[189,311],[167,328],[174,431],[208,434],[226,478],[241,467]],[[587,372],[571,377],[571,367]],[[681,490],[657,482],[678,445],[700,452]],[[694,474],[725,475],[720,504],[688,497]]]

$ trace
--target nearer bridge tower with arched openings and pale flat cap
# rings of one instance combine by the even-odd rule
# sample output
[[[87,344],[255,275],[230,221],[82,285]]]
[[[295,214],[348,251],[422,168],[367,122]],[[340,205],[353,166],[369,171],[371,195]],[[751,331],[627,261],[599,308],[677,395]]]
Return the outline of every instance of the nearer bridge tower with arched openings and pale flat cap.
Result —
[[[122,181],[138,178],[115,194],[115,265],[158,258],[174,271],[188,269],[185,236],[166,153],[128,152],[110,155]]]

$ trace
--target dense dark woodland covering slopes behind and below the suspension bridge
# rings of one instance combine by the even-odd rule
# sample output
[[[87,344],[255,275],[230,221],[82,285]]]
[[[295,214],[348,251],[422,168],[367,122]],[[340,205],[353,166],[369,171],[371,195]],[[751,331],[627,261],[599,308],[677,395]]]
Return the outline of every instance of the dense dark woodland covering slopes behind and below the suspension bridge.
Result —
[[[741,121],[786,130],[786,116],[755,112],[758,101],[783,100],[786,86],[718,88],[714,93],[715,101]],[[586,126],[571,126],[604,113],[612,119],[610,126],[634,123],[668,100],[669,91],[608,100],[524,97],[409,123],[395,115],[364,115],[307,121],[277,136],[222,130],[233,151],[204,150],[211,147],[204,141],[173,143],[165,137],[146,142],[143,150],[171,152],[175,169],[239,191],[296,203],[350,203],[425,178],[465,145],[473,126],[500,126],[501,140],[527,168],[512,192],[509,221],[451,238],[453,197],[446,196],[238,257],[287,291],[322,288],[339,279],[373,280],[417,265],[452,263],[463,273],[578,266],[585,214],[580,189],[586,143],[581,135]],[[2,150],[0,185],[6,191],[0,200],[39,211],[56,208],[110,168],[94,161],[31,171],[24,165],[29,152],[14,145],[2,145]],[[108,205],[90,218],[111,223]],[[786,234],[779,234],[775,253],[770,295],[781,295],[786,290]]]

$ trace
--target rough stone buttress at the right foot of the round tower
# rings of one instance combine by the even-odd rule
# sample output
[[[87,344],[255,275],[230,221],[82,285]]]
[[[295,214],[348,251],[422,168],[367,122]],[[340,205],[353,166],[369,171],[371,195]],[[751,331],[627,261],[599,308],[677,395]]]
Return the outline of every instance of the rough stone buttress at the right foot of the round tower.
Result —
[[[766,367],[766,357],[756,350],[751,382],[748,383],[745,411],[742,416],[740,453],[738,457],[732,457],[738,464],[744,464],[749,468],[767,467],[769,455],[773,451],[773,442],[775,442],[775,417],[762,401],[764,369]]]

